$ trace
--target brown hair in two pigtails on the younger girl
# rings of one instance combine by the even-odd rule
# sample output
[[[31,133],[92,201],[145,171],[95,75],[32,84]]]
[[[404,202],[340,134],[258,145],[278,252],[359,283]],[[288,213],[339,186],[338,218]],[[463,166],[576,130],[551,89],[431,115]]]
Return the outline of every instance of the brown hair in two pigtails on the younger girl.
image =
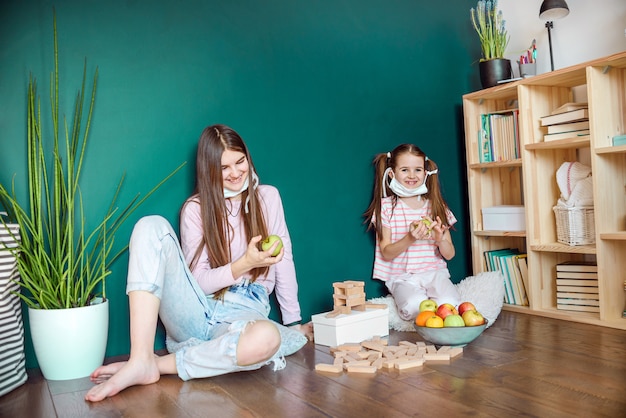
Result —
[[[437,169],[437,164],[426,157],[424,151],[422,151],[417,145],[413,144],[401,144],[394,148],[390,153],[377,154],[374,157],[375,175],[374,175],[374,192],[372,202],[363,214],[365,222],[367,224],[367,230],[375,229],[378,239],[382,239],[383,227],[378,220],[380,219],[381,200],[384,197],[383,192],[386,190],[387,196],[391,196],[393,200],[393,207],[396,207],[398,203],[398,196],[389,188],[389,179],[383,179],[385,170],[391,167],[395,170],[398,164],[398,157],[401,154],[409,153],[417,157],[424,158],[424,170],[433,171]],[[383,186],[383,181],[385,185]],[[384,187],[384,188],[383,188]],[[448,225],[448,217],[446,216],[446,209],[448,207],[446,201],[441,194],[441,186],[439,184],[439,175],[431,174],[426,179],[426,187],[428,192],[424,194],[424,198],[430,200],[431,213],[430,217],[437,219],[437,216],[441,218],[441,222],[445,226]],[[372,222],[373,221],[373,222]]]

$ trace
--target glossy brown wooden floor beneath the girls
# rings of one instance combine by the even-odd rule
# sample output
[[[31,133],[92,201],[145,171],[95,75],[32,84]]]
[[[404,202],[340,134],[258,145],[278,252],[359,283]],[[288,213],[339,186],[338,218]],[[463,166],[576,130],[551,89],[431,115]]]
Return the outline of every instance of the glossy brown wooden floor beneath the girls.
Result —
[[[390,344],[418,341],[392,332]],[[625,417],[626,331],[502,312],[449,364],[374,376],[325,375],[328,347],[307,344],[287,367],[129,388],[83,400],[88,379],[30,373],[0,398],[0,417]]]

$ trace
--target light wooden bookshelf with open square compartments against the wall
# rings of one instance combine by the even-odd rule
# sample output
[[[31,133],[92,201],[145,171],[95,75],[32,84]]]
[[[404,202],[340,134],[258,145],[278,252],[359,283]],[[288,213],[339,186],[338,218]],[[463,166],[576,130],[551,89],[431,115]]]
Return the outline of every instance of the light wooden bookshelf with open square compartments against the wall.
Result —
[[[623,52],[463,96],[474,274],[485,271],[486,251],[517,248],[528,254],[530,306],[504,309],[626,330],[626,145],[612,146],[614,136],[626,133],[625,86]],[[590,135],[544,142],[540,118],[573,102],[581,89]],[[511,109],[519,110],[521,158],[481,162],[482,115]],[[556,171],[581,158],[592,170],[595,243],[570,246],[557,240]],[[496,205],[524,205],[526,231],[483,230],[481,209]],[[556,265],[565,261],[597,263],[599,312],[557,309]]]

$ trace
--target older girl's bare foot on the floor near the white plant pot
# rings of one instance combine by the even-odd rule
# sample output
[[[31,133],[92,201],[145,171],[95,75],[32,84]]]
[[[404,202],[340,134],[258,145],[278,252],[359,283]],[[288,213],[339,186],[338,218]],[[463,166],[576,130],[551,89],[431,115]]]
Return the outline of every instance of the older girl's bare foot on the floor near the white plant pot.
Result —
[[[91,374],[91,380],[99,383],[87,392],[85,400],[98,402],[117,395],[130,386],[149,385],[161,377],[156,359],[133,360],[107,364]]]

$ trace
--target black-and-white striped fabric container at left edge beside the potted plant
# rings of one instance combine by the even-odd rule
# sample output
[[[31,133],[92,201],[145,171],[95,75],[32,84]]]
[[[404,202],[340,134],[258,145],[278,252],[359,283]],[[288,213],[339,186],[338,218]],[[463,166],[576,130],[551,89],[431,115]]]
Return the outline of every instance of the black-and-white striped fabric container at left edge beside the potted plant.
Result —
[[[19,239],[17,225],[9,229]],[[26,382],[26,357],[24,355],[24,325],[19,292],[15,282],[19,278],[17,263],[11,251],[17,242],[0,223],[0,396]]]

